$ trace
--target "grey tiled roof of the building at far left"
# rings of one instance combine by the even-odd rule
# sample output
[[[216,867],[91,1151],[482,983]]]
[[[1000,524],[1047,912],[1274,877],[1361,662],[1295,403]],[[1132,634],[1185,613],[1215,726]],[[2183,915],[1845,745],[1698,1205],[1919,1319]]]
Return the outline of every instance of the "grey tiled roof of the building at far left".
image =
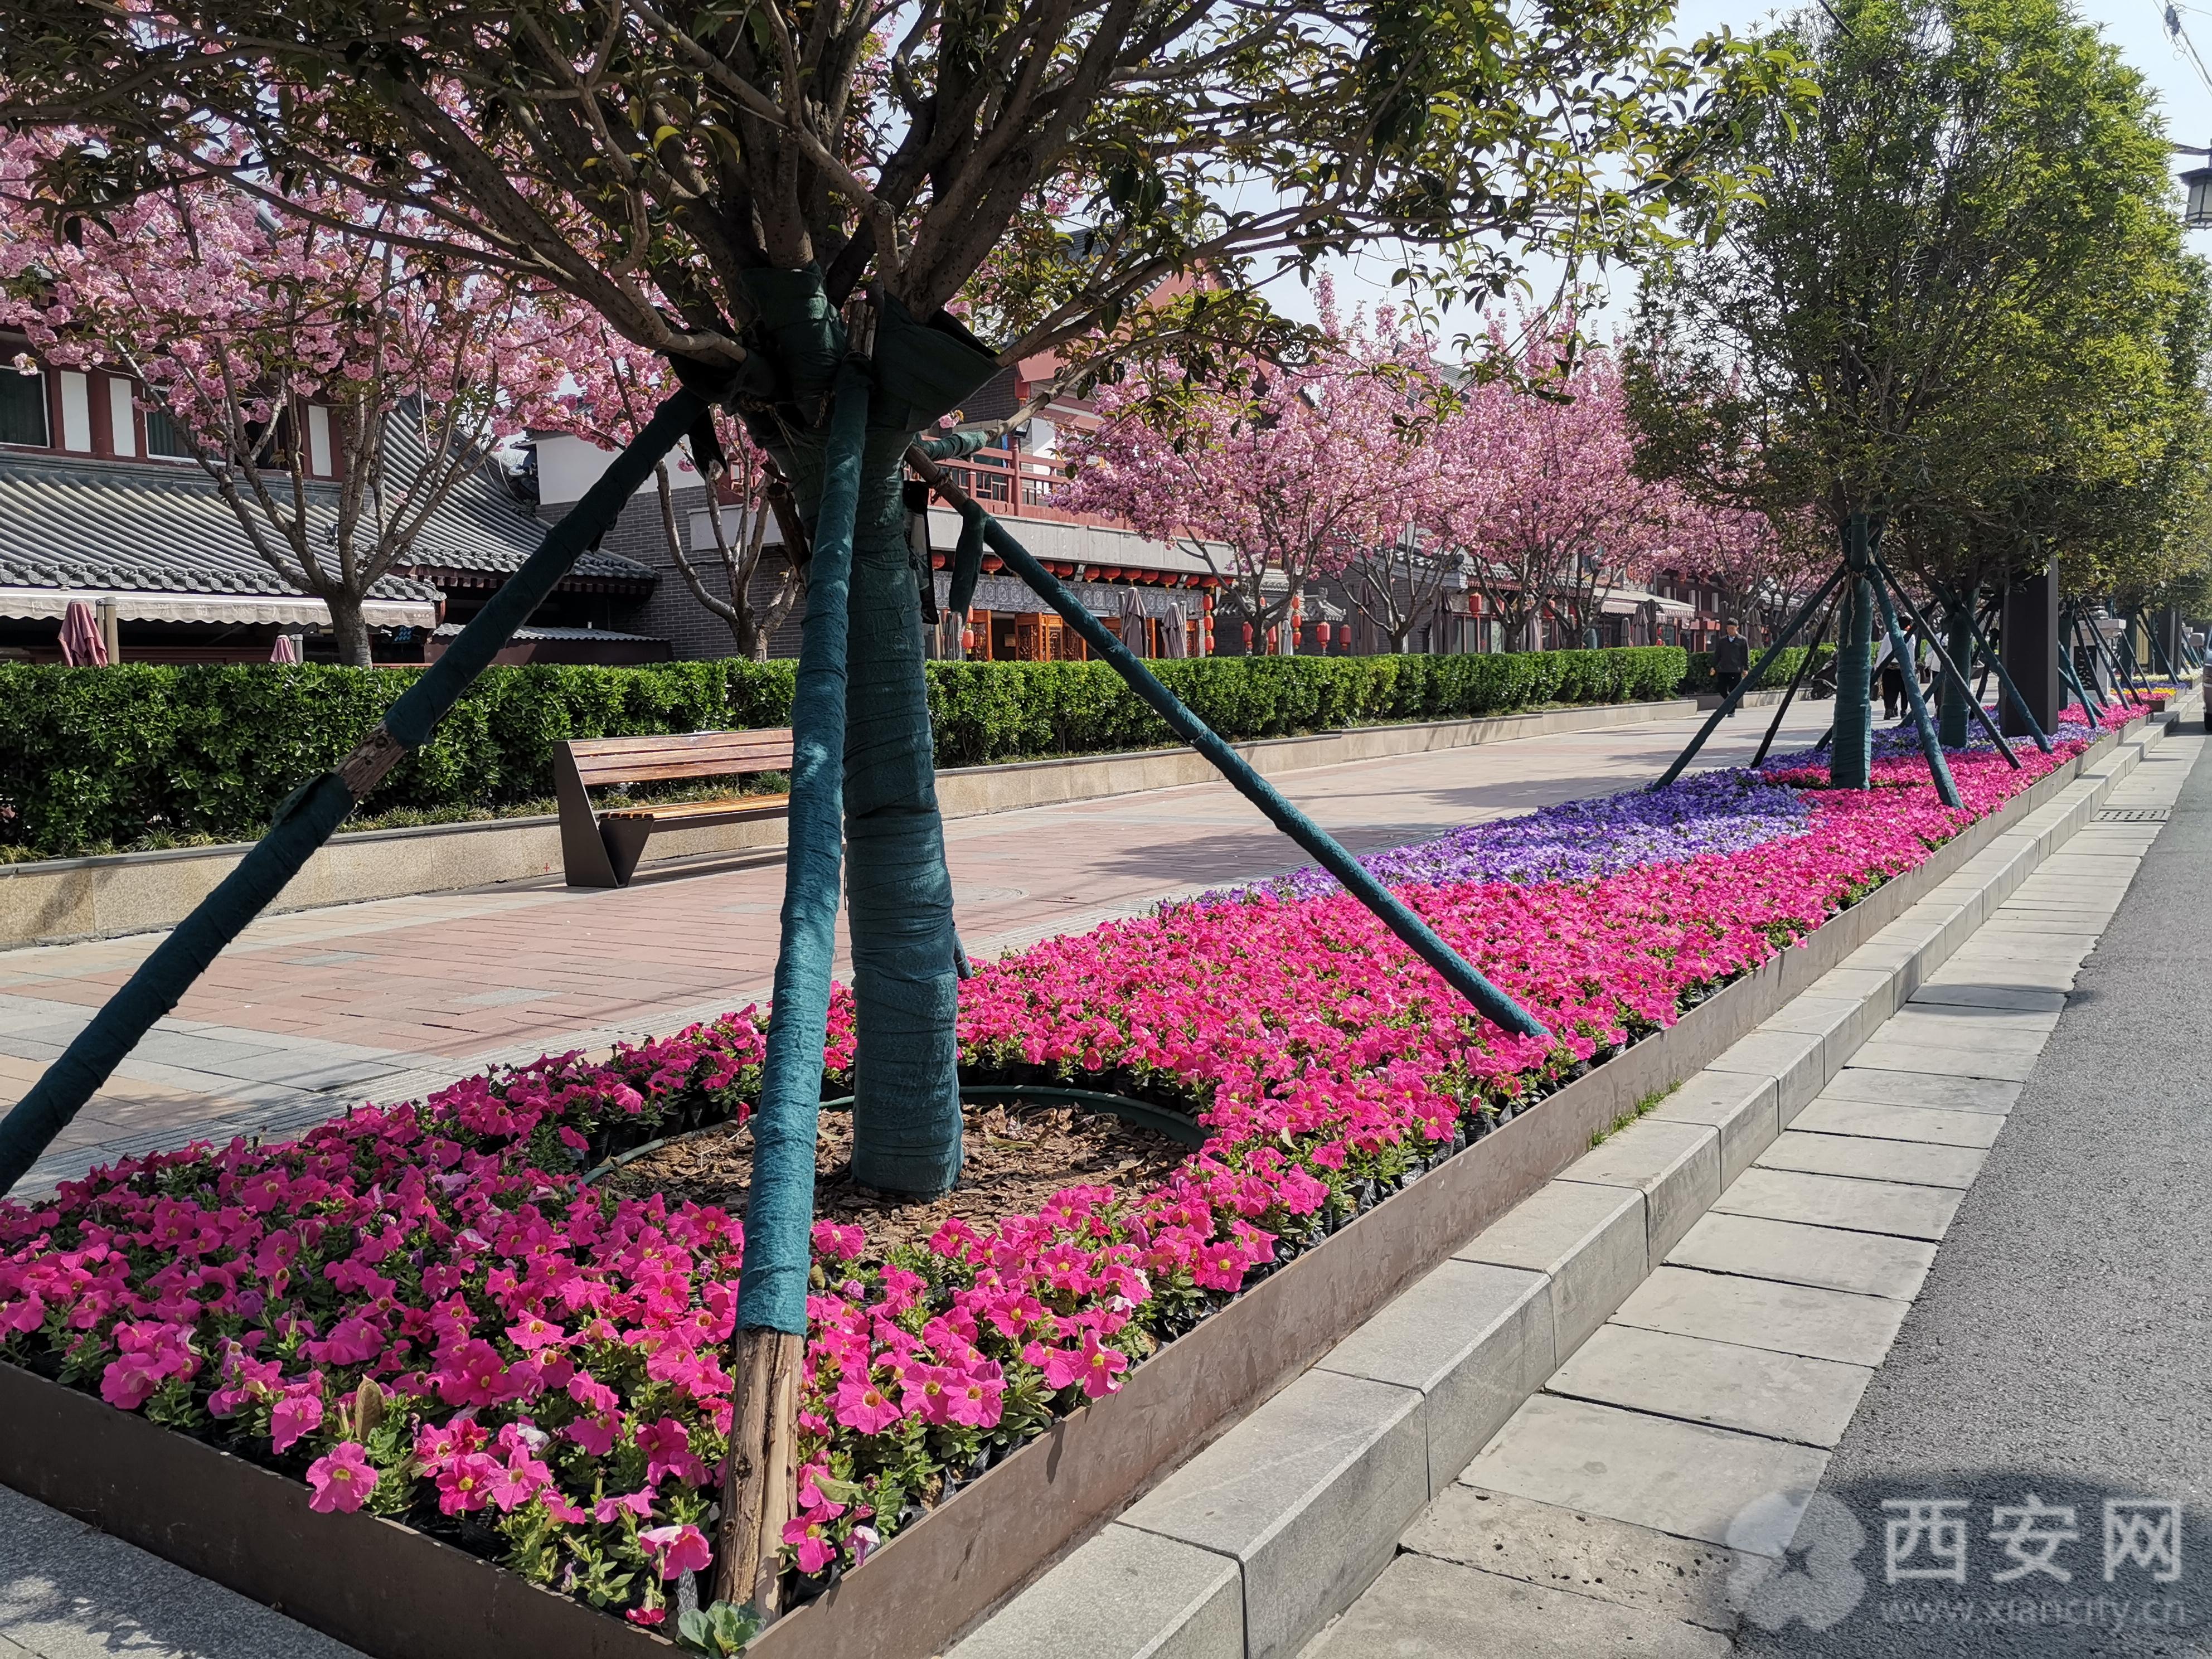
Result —
[[[327,487],[310,507],[334,515]],[[471,473],[416,540],[409,564],[513,571],[546,526],[529,518],[491,471]],[[653,582],[615,553],[586,553],[575,573]],[[239,529],[192,462],[106,462],[0,449],[0,586],[155,593],[292,593]],[[387,575],[380,599],[438,599],[438,588]]]

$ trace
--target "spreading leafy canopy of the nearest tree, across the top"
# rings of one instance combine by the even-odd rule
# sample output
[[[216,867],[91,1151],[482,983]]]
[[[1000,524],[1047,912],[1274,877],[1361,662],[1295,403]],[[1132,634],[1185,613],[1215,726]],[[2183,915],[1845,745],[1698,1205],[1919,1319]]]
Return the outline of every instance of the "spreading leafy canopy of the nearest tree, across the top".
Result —
[[[1796,86],[1670,0],[0,0],[9,113],[106,139],[58,212],[221,166],[445,219],[626,338],[743,354],[743,274],[964,303],[1018,361],[1279,325],[1283,265],[1378,237],[1440,294],[1630,257],[1741,195]],[[1803,88],[1796,88],[1803,93]],[[1203,274],[1172,305],[1139,305]]]

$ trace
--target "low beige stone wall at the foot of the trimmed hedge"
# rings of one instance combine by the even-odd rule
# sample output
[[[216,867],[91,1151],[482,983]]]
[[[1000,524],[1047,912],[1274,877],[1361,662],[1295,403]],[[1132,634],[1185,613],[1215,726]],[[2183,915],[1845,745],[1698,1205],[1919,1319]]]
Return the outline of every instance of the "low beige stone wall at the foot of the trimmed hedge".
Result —
[[[1690,699],[1548,708],[1535,714],[1425,721],[1420,726],[1363,726],[1345,732],[1239,743],[1237,748],[1265,776],[1281,776],[1345,761],[1679,719],[1694,708]],[[984,812],[1064,805],[1137,790],[1214,783],[1217,779],[1212,765],[1188,748],[1077,754],[1060,761],[969,765],[940,772],[938,803],[947,818],[971,818]],[[670,830],[653,838],[653,852],[641,867],[653,869],[670,860],[712,854],[774,854],[781,847],[781,818],[719,830]],[[215,891],[223,876],[237,869],[243,856],[243,845],[228,845],[0,865],[0,949],[66,945],[80,938],[115,938],[175,927],[190,914],[192,905]],[[447,823],[422,830],[369,830],[332,836],[270,905],[270,911],[491,887],[560,876],[560,821],[551,816]]]

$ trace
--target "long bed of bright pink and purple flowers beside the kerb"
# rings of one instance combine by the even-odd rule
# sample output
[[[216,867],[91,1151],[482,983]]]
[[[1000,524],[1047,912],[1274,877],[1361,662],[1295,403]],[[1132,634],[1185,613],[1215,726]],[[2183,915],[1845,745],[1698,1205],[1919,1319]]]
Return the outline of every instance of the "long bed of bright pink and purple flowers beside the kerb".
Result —
[[[989,1232],[951,1221],[925,1248],[816,1225],[794,1593],[2090,734],[2064,728],[2053,759],[2022,750],[2022,772],[1986,748],[1953,754],[1962,812],[1885,737],[1867,792],[1827,792],[1812,754],[1694,779],[1679,816],[1710,830],[1670,832],[1661,792],[1380,856],[1394,878],[1438,876],[1400,891],[1553,1042],[1475,1020],[1354,900],[1298,896],[1301,880],[982,969],[962,987],[969,1075],[1133,1093],[1210,1135],[1159,1188],[1068,1188]],[[1717,810],[1730,790],[1743,823]],[[1619,867],[1608,836],[1639,860]],[[1699,849],[1708,838],[1721,849]],[[1484,847],[1604,874],[1453,878]],[[294,1144],[188,1146],[0,1203],[0,1356],[290,1471],[314,1509],[405,1517],[661,1624],[672,1579],[710,1562],[743,1228],[615,1199],[580,1170],[743,1117],[761,1022],[743,1009],[604,1064],[546,1057]],[[849,1060],[841,995],[832,1084]]]

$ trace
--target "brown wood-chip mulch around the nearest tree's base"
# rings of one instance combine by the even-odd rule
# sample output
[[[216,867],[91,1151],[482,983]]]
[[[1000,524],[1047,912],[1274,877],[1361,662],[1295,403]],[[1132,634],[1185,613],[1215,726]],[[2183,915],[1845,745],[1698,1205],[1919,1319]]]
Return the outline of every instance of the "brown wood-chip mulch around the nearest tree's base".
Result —
[[[1110,1113],[1026,1102],[969,1102],[962,1110],[960,1186],[940,1199],[909,1199],[852,1179],[852,1113],[823,1113],[814,1146],[814,1214],[867,1228],[872,1248],[925,1243],[947,1219],[978,1232],[1009,1214],[1035,1214],[1068,1186],[1148,1190],[1190,1148]],[[666,1194],[743,1214],[752,1181],[752,1126],[712,1128],[611,1170],[602,1186],[628,1199]]]

